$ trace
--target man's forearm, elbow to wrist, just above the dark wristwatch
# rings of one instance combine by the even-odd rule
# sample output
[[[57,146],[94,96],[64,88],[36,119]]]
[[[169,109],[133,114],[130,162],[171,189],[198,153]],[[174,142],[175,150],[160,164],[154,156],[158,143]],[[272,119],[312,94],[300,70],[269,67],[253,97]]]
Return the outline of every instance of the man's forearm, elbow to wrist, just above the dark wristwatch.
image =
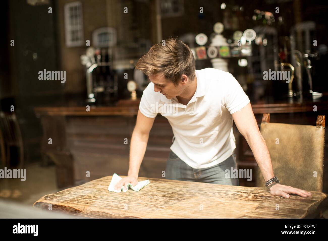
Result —
[[[260,131],[255,131],[253,134],[247,133],[244,137],[253,151],[254,157],[265,181],[273,178],[274,173],[270,153]]]

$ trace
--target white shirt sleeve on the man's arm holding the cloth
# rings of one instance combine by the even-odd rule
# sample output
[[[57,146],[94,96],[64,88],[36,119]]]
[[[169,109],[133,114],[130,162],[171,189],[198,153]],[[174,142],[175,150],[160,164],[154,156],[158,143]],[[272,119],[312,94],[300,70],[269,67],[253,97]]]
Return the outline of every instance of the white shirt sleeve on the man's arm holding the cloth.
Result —
[[[150,91],[154,92],[152,82],[149,83],[146,89],[142,92],[141,100],[139,103],[139,110],[144,116],[154,118],[158,113],[158,108],[155,108],[156,100]]]

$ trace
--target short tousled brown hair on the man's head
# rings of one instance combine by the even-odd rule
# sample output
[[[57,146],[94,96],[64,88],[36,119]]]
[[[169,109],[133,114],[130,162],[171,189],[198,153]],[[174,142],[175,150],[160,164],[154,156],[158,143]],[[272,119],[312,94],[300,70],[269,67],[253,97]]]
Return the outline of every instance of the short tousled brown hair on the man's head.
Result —
[[[137,62],[135,69],[141,70],[145,75],[163,73],[166,79],[175,85],[185,74],[193,81],[195,79],[195,58],[188,45],[176,38],[165,40],[165,46],[155,44],[147,54]]]

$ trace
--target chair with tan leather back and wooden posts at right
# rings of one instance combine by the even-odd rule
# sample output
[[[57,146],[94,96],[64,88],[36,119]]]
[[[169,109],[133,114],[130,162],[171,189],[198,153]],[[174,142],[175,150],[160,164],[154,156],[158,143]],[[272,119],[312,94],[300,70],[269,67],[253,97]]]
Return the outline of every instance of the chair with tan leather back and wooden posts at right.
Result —
[[[263,114],[261,134],[269,149],[272,167],[280,183],[306,191],[322,191],[325,116],[316,126],[270,123]],[[256,187],[265,187],[256,166]]]

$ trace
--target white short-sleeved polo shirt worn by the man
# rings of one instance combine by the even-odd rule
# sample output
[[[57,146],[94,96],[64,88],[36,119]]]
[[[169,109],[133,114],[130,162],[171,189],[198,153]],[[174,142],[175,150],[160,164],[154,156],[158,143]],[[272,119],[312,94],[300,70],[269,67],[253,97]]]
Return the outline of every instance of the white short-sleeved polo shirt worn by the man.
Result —
[[[139,110],[147,117],[165,116],[174,134],[171,150],[195,169],[226,160],[236,148],[231,114],[250,100],[231,73],[206,68],[195,70],[197,87],[187,105],[154,91],[151,82],[143,91]]]

